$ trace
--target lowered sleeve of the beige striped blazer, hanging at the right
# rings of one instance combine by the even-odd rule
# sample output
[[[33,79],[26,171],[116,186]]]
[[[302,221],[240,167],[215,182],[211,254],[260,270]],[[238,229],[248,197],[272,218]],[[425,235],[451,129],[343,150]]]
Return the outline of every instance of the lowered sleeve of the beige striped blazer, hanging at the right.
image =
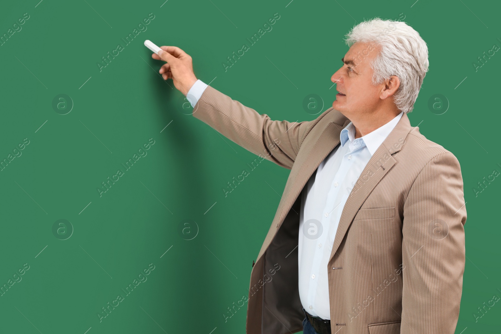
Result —
[[[446,151],[422,168],[403,206],[401,334],[453,333],[464,272],[461,169]]]

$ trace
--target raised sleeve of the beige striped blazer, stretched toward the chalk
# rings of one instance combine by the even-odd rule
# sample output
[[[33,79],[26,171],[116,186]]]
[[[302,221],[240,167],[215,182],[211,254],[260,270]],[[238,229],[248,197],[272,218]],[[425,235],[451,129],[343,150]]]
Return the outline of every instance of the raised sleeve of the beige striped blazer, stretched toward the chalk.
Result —
[[[331,109],[313,121],[272,121],[267,114],[207,86],[192,115],[247,151],[292,169],[304,137]]]

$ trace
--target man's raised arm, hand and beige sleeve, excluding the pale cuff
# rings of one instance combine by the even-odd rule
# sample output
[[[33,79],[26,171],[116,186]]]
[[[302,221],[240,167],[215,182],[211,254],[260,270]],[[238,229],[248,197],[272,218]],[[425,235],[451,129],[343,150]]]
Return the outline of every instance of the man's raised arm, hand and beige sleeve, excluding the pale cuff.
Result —
[[[177,47],[160,48],[159,55],[152,55],[153,59],[167,62],[160,68],[160,74],[164,80],[172,79],[186,96],[197,82],[191,57]],[[195,103],[194,117],[246,150],[288,169],[292,169],[306,134],[332,109],[313,121],[272,121],[267,114],[259,114],[211,86]]]

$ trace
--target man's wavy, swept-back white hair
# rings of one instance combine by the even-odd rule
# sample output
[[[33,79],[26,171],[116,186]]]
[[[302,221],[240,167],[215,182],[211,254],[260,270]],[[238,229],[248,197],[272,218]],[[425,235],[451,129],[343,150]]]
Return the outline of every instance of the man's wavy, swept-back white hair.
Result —
[[[394,102],[400,111],[410,113],[414,108],[424,76],[428,72],[428,47],[418,32],[405,22],[375,18],[361,22],[346,35],[346,44],[374,42],[381,47],[370,66],[374,71],[372,84],[397,76],[400,87]]]

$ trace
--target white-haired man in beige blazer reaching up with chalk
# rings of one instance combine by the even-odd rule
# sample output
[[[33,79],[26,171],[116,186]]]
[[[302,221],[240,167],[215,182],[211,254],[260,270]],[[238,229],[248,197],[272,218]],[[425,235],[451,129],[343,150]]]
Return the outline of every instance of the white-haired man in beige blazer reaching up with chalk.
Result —
[[[377,18],[346,44],[332,108],[300,123],[272,121],[197,80],[177,47],[152,57],[167,62],[159,72],[194,117],[291,170],[253,261],[247,334],[453,333],[461,169],[407,117],[428,71],[426,43],[404,22]]]

